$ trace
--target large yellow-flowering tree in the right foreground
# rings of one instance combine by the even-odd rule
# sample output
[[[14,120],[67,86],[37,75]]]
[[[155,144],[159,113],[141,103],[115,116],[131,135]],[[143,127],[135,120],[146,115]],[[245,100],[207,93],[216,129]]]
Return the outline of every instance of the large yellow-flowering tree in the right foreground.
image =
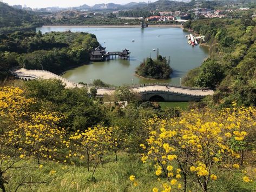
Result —
[[[155,174],[168,178],[166,191],[187,189],[198,183],[204,191],[218,179],[220,170],[238,169],[240,155],[230,141],[244,141],[255,130],[255,108],[184,112],[170,120],[153,118],[145,124],[150,136],[141,147],[142,161],[155,162]],[[212,186],[212,185],[211,185]]]

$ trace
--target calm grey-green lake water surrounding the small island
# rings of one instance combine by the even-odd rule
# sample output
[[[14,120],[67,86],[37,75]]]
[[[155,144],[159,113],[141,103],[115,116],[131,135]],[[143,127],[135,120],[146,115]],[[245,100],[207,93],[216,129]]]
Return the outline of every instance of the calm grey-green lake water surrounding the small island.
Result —
[[[95,34],[106,51],[130,50],[130,60],[113,59],[106,62],[88,62],[80,67],[70,69],[62,76],[74,82],[91,83],[100,79],[113,85],[168,82],[179,84],[180,78],[201,65],[208,57],[208,48],[187,43],[188,32],[181,28],[88,28],[88,27],[42,27],[42,33],[50,31],[89,32]],[[134,42],[132,40],[134,39]],[[173,74],[169,80],[146,80],[135,76],[138,67],[146,57],[156,57],[156,51],[166,57],[170,56]]]

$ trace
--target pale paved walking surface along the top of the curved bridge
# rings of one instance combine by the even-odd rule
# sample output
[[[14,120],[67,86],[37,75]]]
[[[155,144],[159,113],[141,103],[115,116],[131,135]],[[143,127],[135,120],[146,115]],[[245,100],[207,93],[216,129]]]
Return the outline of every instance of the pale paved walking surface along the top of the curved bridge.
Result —
[[[74,88],[74,87],[84,87],[82,84],[74,83],[66,78],[63,78],[61,76],[58,76],[56,74],[53,74],[49,71],[44,70],[27,70],[24,68],[18,69],[16,71],[13,71],[17,75],[25,75],[25,76],[31,76],[31,77],[37,77],[42,79],[50,79],[50,78],[57,78],[58,80],[61,80],[63,83],[66,84],[67,88]],[[90,89],[90,88],[89,88]],[[166,88],[165,85],[149,85],[145,87],[137,87],[137,88],[131,88],[131,90],[135,92],[148,92],[148,91],[170,91],[170,92],[178,92],[179,94],[188,94],[188,95],[195,95],[195,96],[206,96],[206,95],[213,95],[213,90],[193,90],[193,89],[186,89],[186,88],[180,88],[180,87],[168,87]],[[97,94],[99,95],[111,95],[114,94],[114,89],[97,89]]]

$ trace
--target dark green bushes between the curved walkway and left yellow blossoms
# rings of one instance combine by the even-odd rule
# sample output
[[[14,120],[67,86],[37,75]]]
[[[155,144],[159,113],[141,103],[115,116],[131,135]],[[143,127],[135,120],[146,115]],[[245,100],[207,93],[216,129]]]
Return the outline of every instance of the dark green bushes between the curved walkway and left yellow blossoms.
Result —
[[[61,81],[44,80],[27,82],[28,95],[40,99],[45,107],[65,115],[64,127],[84,130],[97,123],[107,123],[104,109],[86,88],[65,89]]]

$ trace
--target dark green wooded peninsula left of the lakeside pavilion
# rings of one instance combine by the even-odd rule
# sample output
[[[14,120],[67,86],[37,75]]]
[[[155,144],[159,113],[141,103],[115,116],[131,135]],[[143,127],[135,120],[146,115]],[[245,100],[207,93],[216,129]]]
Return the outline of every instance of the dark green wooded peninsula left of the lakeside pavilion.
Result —
[[[60,72],[89,61],[99,45],[96,36],[84,32],[14,32],[0,35],[0,72],[13,67]]]

